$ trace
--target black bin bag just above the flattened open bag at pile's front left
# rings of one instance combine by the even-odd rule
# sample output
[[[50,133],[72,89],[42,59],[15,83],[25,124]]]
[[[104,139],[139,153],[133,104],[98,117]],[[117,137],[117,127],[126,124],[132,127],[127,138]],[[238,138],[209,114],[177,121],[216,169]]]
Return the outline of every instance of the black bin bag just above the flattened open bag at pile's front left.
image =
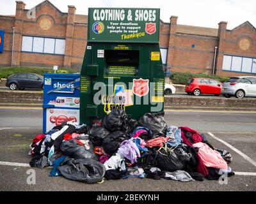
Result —
[[[87,140],[90,149],[86,149],[84,145],[80,145],[76,140]],[[94,153],[94,147],[90,142],[88,136],[81,136],[76,139],[64,140],[61,144],[61,152],[75,159],[86,158],[97,160],[97,156]]]

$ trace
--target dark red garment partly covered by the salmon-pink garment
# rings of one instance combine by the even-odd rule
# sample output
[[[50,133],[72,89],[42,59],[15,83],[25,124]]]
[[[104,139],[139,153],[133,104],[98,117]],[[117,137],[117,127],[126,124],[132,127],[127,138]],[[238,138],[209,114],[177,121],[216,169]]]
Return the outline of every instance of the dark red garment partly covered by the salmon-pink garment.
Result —
[[[203,138],[202,136],[196,132],[194,129],[191,129],[191,128],[188,128],[188,127],[179,127],[180,128],[180,132],[181,132],[181,138],[183,140],[183,142],[186,144],[186,145],[189,145],[189,146],[192,146],[193,147],[193,144],[188,140],[188,138],[186,138],[186,136],[184,135],[184,131],[189,131],[192,133],[192,140],[194,143],[198,143],[198,142],[202,142]],[[207,171],[207,168],[204,164],[204,161],[202,161],[202,157],[200,156],[200,154],[197,153],[197,156],[198,156],[198,165],[197,165],[197,171],[198,173],[201,173],[202,175],[209,175],[208,171]]]

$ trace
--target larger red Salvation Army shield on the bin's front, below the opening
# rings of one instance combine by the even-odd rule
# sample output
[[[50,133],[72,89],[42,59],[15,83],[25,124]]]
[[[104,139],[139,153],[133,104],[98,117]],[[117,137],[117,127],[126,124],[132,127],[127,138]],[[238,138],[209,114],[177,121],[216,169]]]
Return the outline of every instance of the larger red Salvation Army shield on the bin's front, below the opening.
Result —
[[[149,91],[148,79],[133,79],[132,92],[137,96],[146,96]]]

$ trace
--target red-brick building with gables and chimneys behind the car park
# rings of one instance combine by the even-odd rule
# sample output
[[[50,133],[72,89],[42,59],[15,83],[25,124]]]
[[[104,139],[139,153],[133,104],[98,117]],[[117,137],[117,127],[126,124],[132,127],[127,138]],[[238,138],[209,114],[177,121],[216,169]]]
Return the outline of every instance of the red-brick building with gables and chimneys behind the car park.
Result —
[[[68,6],[68,13],[63,13],[50,1],[31,10],[25,6],[16,1],[15,15],[0,15],[0,30],[4,31],[0,66],[58,65],[80,69],[87,40],[87,16],[77,15],[75,6]],[[177,18],[172,16],[170,23],[160,22],[159,44],[166,67],[230,77],[256,75],[256,29],[250,22],[228,30],[227,22],[220,22],[218,29],[213,29],[179,25]]]

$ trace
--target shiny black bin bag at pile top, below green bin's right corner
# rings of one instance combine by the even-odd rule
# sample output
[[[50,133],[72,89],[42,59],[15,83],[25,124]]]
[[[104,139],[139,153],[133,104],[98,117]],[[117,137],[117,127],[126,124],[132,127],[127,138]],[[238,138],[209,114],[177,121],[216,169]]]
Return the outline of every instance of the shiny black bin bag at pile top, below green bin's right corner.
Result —
[[[145,113],[139,120],[140,126],[151,129],[154,137],[160,135],[166,135],[166,130],[168,128],[166,122],[164,121],[164,112],[159,113]]]

